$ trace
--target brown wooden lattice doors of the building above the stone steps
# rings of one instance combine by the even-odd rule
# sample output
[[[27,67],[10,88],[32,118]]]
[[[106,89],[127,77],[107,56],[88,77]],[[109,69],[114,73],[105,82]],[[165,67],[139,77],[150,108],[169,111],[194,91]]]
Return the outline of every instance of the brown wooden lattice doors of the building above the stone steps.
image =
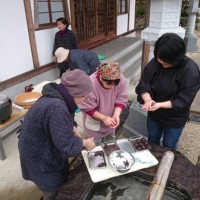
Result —
[[[79,46],[86,47],[115,35],[115,0],[74,0],[72,23]],[[98,42],[97,42],[98,43]]]

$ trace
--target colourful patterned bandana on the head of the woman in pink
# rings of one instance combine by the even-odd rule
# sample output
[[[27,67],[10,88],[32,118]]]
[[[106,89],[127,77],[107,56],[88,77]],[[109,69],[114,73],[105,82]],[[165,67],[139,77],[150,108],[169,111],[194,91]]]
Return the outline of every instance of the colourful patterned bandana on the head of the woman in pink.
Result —
[[[101,64],[97,71],[104,80],[116,80],[120,78],[121,70],[118,62]]]

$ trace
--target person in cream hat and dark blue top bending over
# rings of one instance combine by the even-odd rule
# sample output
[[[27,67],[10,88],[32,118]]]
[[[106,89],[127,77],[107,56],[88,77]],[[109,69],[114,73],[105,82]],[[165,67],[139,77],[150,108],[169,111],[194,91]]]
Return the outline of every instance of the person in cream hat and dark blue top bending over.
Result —
[[[65,63],[71,70],[81,69],[88,75],[93,74],[100,61],[96,53],[86,49],[58,48],[55,52],[57,63]]]

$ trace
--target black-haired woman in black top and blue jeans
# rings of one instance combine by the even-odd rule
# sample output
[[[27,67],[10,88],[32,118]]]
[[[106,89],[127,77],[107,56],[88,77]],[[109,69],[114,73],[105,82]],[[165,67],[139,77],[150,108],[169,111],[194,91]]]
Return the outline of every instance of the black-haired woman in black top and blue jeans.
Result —
[[[148,140],[176,149],[190,106],[200,88],[198,65],[185,55],[184,40],[163,34],[155,43],[154,58],[144,68],[136,87],[138,101],[148,112]]]

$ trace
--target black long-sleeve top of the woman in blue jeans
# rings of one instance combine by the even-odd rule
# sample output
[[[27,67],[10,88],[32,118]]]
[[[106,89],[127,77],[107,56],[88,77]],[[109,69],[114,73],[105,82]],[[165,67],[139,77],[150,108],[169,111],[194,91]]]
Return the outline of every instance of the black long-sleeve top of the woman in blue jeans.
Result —
[[[164,126],[178,128],[185,125],[199,88],[200,72],[192,59],[185,56],[179,65],[164,68],[153,58],[142,73],[136,93],[141,104],[144,103],[141,95],[145,92],[156,102],[170,100],[171,109],[149,111],[148,116]]]

